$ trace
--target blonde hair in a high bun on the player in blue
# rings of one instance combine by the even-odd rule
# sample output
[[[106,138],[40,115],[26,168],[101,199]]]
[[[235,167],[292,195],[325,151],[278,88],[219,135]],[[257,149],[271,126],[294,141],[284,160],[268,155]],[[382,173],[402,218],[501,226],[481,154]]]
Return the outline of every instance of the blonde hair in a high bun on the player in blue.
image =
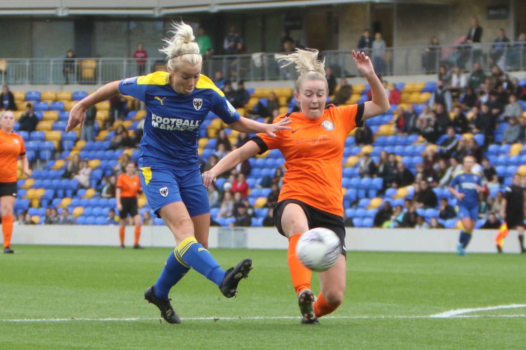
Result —
[[[194,41],[194,31],[192,27],[184,22],[174,23],[174,36],[171,39],[164,39],[165,47],[160,49],[166,55],[166,66],[171,70],[177,70],[180,63],[190,65],[200,65],[203,58],[199,54],[199,45]]]

